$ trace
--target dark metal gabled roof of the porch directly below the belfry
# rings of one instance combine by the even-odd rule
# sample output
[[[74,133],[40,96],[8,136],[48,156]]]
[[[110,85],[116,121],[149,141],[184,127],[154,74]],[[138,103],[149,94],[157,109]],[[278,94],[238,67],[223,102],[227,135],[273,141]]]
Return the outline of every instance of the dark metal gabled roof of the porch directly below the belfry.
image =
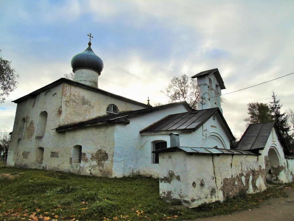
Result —
[[[208,119],[211,116],[213,116],[216,113],[219,114],[229,135],[231,136],[232,140],[234,140],[234,136],[232,132],[230,131],[230,128],[218,107],[168,115],[165,118],[161,119],[160,121],[143,129],[142,131],[140,131],[140,133],[142,134],[146,132],[161,132],[161,131],[176,131],[176,130],[196,131],[206,121],[208,121]]]

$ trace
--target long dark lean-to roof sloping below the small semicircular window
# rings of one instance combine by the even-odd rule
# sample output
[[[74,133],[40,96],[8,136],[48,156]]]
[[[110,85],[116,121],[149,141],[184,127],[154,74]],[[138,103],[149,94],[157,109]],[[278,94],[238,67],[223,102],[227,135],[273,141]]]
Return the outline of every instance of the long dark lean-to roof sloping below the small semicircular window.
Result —
[[[170,103],[170,104],[165,104],[165,105],[160,105],[157,107],[148,107],[145,109],[140,109],[140,110],[131,110],[127,112],[121,112],[119,114],[109,114],[109,115],[104,115],[100,116],[98,118],[93,118],[87,121],[81,121],[79,123],[74,123],[70,125],[64,125],[64,126],[59,126],[58,128],[54,128],[53,130],[56,131],[66,131],[66,130],[72,130],[76,128],[81,128],[81,127],[87,127],[87,126],[95,126],[99,124],[106,124],[106,123],[119,123],[119,124],[129,124],[130,121],[128,119],[137,117],[140,115],[144,115],[147,113],[152,113],[158,110],[163,110],[166,108],[171,108],[173,106],[177,105],[184,105],[187,110],[193,110],[193,108],[190,107],[190,105],[186,101],[181,101],[181,102],[176,102],[176,103]]]

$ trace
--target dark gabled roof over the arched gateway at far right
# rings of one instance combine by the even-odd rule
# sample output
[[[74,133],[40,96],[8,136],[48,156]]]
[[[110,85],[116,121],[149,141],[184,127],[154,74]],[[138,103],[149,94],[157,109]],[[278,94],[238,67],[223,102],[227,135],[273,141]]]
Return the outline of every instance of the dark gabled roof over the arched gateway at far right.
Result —
[[[250,124],[238,142],[236,150],[263,149],[273,128],[278,135],[278,139],[283,146],[284,152],[288,153],[288,149],[285,146],[275,122]]]

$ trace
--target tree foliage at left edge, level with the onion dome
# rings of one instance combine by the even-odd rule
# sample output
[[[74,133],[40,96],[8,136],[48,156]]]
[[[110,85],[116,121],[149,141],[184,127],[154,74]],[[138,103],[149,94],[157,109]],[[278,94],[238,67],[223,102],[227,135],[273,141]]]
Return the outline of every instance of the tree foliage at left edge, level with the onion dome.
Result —
[[[14,91],[18,84],[16,78],[19,75],[10,67],[10,64],[11,61],[5,60],[0,56],[0,104],[4,103],[6,96]]]

